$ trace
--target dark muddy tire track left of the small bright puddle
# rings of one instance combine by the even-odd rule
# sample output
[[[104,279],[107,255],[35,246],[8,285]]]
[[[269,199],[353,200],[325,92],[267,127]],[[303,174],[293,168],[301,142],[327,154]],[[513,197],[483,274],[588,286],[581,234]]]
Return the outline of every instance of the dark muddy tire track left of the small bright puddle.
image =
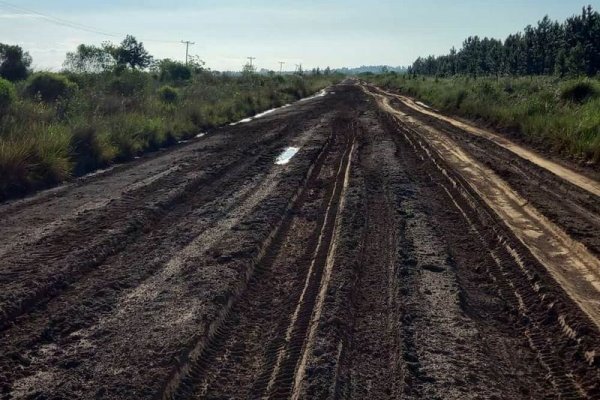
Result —
[[[300,121],[296,120],[303,125]],[[87,211],[50,236],[22,245],[22,249],[4,257],[0,261],[0,282],[6,287],[0,293],[0,331],[37,304],[59,296],[70,284],[144,237],[177,209],[205,198],[199,188],[241,171],[249,162],[259,160],[260,155],[275,151],[282,138],[295,129],[298,126],[273,128],[259,143],[235,148],[231,152],[233,158],[211,153],[196,162],[184,163],[147,185],[134,185],[106,207]],[[200,165],[208,167],[199,170]]]

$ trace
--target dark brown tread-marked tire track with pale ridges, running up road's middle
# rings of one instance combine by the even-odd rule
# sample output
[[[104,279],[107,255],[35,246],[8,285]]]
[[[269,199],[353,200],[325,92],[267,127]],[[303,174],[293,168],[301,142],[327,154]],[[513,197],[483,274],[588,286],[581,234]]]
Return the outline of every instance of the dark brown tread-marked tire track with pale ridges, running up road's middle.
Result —
[[[348,140],[339,143],[340,140],[332,137],[328,148],[313,166],[290,213],[273,236],[272,243],[263,251],[264,256],[258,262],[248,288],[235,300],[235,304],[229,306],[230,311],[208,341],[196,346],[198,356],[191,358],[187,376],[180,378],[172,394],[167,390],[163,397],[232,396],[229,391],[233,387],[228,384],[232,379],[238,382],[235,396],[287,397],[282,393],[291,390],[291,378],[300,357],[331,244],[345,168],[349,165],[352,144]],[[335,169],[328,172],[333,165]],[[331,173],[334,173],[334,179],[327,182],[325,179]],[[324,191],[326,196],[321,197],[319,191]],[[315,224],[317,221],[310,222],[312,217],[309,214],[318,211],[318,204],[325,204],[329,211]],[[306,215],[308,219],[304,220],[300,215]],[[300,248],[295,247],[300,240],[308,242]],[[290,264],[297,265],[298,269],[288,271],[287,268],[293,266]],[[289,285],[289,279],[296,282],[289,289],[272,286],[277,282]],[[275,293],[266,295],[266,290]],[[288,290],[289,293],[286,293]],[[289,314],[285,310],[289,310]],[[238,337],[240,335],[242,337]],[[270,338],[266,347],[252,343],[259,340],[256,335]],[[256,356],[253,355],[255,352],[258,353]],[[250,362],[253,364],[246,365]]]

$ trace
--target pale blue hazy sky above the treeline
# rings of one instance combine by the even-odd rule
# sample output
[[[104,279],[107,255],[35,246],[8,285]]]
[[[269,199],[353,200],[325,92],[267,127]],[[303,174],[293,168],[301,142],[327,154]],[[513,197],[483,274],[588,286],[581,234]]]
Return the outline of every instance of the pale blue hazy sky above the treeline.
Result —
[[[185,59],[182,40],[214,70],[409,65],[470,35],[505,38],[544,15],[578,14],[599,0],[0,0],[0,43],[38,70],[60,69],[80,43],[142,41],[156,58]],[[41,15],[40,15],[41,14]],[[54,18],[51,22],[46,16]],[[56,19],[60,20],[56,23]],[[71,27],[76,24],[81,29]],[[71,25],[71,26],[69,26]]]

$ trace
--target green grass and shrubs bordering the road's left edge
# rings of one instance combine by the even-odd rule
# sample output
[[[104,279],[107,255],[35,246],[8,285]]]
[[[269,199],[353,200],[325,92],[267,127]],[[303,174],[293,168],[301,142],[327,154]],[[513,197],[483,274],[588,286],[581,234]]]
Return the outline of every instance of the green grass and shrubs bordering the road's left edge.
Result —
[[[16,96],[0,108],[0,201],[291,103],[340,80],[209,71],[167,83],[138,71],[39,76],[5,90]],[[58,76],[68,90],[55,89],[57,79],[48,76]],[[63,95],[32,92],[46,81]]]

